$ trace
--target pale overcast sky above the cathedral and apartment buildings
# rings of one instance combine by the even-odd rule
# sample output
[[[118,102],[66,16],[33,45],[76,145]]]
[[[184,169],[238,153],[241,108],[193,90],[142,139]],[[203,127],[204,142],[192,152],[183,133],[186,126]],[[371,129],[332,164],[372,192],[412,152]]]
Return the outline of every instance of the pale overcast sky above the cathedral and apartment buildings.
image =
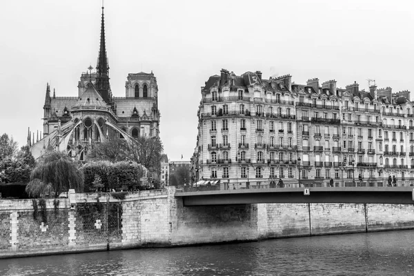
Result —
[[[77,96],[81,72],[96,67],[100,20],[100,0],[2,1],[0,134],[23,146],[28,127],[42,131],[48,82]],[[128,73],[154,72],[171,161],[193,155],[200,88],[221,68],[414,92],[413,1],[106,0],[105,24],[112,94],[125,97]]]

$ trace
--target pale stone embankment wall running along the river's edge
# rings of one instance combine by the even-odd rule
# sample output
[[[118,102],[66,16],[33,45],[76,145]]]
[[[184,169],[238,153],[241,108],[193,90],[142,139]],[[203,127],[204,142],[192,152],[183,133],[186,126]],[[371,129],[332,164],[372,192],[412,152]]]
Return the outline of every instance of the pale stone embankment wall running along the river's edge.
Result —
[[[175,188],[115,199],[0,200],[0,257],[414,229],[414,206],[246,204],[184,207]],[[37,206],[37,211],[35,206]]]

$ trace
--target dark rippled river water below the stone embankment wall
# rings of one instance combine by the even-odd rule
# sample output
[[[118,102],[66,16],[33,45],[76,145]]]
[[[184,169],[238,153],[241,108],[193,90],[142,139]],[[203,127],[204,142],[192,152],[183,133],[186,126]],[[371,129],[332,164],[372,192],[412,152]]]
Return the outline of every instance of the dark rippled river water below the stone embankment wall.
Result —
[[[414,275],[414,230],[3,259],[0,275]]]

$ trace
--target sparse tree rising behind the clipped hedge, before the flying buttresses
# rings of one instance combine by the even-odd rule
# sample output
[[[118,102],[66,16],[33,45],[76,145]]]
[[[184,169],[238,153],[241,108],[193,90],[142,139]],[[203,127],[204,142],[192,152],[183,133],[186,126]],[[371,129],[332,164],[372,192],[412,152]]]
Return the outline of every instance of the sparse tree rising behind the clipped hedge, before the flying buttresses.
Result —
[[[126,161],[128,157],[128,144],[124,139],[114,139],[97,144],[88,153],[88,160],[102,161],[107,160],[112,163]]]

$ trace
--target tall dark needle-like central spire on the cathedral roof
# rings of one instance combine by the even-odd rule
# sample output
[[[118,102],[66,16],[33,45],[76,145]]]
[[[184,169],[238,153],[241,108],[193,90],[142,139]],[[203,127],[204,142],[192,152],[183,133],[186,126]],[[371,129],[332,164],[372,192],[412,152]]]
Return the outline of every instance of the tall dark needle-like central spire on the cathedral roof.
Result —
[[[105,20],[103,19],[103,3],[101,18],[101,41],[99,43],[99,56],[97,61],[97,82],[96,88],[106,103],[110,102],[109,66],[106,57],[105,45]]]

